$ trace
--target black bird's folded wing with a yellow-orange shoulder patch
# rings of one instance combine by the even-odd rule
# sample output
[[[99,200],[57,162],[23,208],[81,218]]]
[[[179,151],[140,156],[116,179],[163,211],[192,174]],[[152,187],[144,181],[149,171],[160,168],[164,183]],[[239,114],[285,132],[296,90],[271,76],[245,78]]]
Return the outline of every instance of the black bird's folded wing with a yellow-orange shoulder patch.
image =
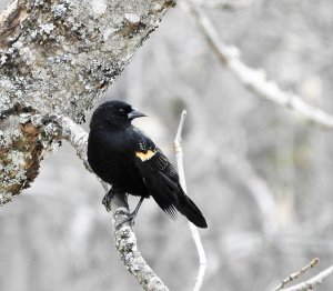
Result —
[[[179,177],[163,152],[148,137],[139,139],[135,164],[149,193],[171,218],[176,217]]]

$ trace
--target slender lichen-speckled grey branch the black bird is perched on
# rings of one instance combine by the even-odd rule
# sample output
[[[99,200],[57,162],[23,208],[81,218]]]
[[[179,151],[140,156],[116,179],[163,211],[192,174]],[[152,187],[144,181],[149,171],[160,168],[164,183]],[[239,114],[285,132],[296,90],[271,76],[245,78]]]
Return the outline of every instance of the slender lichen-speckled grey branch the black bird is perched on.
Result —
[[[87,160],[88,133],[69,118],[58,117],[57,121],[62,126],[63,138],[72,144],[87,169],[91,171]],[[108,190],[109,185],[102,181],[101,183]],[[114,197],[105,207],[112,210],[115,249],[125,268],[137,278],[144,290],[168,291],[169,289],[139,252],[135,233],[129,223],[120,223],[130,214],[127,195],[114,193]]]

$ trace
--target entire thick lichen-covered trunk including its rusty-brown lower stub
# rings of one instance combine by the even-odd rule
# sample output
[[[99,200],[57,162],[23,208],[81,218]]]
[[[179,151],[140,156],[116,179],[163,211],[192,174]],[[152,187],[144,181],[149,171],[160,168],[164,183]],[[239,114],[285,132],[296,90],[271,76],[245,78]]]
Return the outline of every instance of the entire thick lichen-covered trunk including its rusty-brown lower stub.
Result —
[[[61,139],[51,114],[84,121],[172,0],[14,0],[0,16],[0,205],[30,185]]]

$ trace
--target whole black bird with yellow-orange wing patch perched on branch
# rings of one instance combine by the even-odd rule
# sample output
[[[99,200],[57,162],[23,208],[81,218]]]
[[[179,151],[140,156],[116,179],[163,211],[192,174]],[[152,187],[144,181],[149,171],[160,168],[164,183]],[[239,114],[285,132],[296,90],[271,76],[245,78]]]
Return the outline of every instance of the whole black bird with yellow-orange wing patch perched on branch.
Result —
[[[140,117],[145,114],[123,101],[108,101],[97,108],[88,139],[91,169],[112,185],[113,192],[141,197],[131,213],[132,222],[144,198],[152,195],[171,218],[175,218],[178,210],[196,227],[206,228],[204,217],[182,190],[179,175],[168,158],[131,124]],[[111,191],[109,195],[112,195]]]

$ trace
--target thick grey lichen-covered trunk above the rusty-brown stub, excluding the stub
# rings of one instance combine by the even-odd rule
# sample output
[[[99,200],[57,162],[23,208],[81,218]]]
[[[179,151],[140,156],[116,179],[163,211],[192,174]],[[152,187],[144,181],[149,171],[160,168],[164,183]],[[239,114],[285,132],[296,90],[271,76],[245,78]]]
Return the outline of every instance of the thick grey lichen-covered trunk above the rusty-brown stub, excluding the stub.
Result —
[[[170,0],[17,0],[0,18],[1,110],[24,103],[82,121]]]

